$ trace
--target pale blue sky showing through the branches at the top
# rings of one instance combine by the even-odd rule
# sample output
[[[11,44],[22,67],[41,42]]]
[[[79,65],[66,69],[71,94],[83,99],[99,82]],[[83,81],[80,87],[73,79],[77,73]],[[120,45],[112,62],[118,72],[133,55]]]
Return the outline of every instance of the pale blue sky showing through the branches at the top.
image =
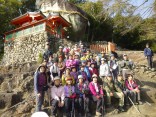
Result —
[[[96,2],[97,0],[90,0],[90,1]],[[147,1],[147,2],[145,2],[145,1]],[[139,8],[137,8],[137,10],[134,12],[134,14],[140,14],[142,16],[142,18],[144,18],[144,19],[152,16],[153,11],[152,11],[152,8],[150,8],[150,7],[152,7],[152,4],[154,3],[154,1],[155,0],[131,0],[131,3],[134,6],[139,7],[141,5]]]

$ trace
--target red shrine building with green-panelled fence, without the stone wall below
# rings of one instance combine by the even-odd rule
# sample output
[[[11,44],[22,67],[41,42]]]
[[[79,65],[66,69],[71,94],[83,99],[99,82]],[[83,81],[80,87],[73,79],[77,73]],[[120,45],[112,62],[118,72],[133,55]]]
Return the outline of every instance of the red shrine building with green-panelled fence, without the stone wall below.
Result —
[[[40,31],[48,31],[54,37],[62,39],[65,36],[64,27],[70,26],[70,23],[58,13],[45,17],[40,12],[27,12],[14,18],[11,24],[15,29],[5,33],[5,43]]]

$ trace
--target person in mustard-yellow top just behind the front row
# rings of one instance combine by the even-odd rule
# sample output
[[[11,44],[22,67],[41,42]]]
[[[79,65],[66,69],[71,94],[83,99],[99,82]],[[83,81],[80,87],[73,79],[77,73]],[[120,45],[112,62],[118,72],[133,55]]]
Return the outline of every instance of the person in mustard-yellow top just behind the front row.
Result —
[[[67,78],[71,78],[72,79],[72,84],[75,84],[75,79],[70,73],[71,73],[71,68],[66,67],[65,73],[62,75],[62,85],[66,84],[66,79]]]

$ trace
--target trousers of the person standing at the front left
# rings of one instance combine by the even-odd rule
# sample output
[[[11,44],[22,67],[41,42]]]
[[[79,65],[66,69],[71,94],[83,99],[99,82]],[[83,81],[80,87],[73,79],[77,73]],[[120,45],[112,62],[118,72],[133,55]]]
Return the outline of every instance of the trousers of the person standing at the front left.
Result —
[[[36,94],[36,112],[41,111],[41,107],[44,101],[44,91],[39,92],[41,94],[40,97]]]

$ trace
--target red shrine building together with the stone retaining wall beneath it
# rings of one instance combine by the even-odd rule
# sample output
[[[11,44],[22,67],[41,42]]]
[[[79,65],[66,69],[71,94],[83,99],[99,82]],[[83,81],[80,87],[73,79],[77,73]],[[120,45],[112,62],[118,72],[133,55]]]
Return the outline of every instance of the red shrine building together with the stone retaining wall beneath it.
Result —
[[[56,52],[71,25],[59,13],[45,17],[41,12],[27,12],[11,21],[15,28],[4,33],[4,56],[2,64],[37,61],[43,54],[47,41]]]

